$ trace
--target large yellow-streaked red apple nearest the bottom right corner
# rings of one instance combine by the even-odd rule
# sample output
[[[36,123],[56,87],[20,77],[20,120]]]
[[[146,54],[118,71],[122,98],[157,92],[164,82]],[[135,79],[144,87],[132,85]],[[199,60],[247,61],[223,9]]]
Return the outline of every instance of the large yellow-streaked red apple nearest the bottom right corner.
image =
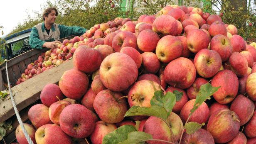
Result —
[[[238,115],[227,108],[214,112],[207,124],[207,131],[212,134],[214,142],[220,144],[234,139],[239,132],[239,128],[240,120]]]

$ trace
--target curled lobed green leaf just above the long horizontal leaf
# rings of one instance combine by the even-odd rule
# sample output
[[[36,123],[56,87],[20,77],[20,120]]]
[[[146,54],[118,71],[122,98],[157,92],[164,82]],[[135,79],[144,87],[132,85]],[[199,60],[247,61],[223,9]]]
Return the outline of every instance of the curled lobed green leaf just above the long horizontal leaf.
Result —
[[[153,98],[150,100],[150,104],[156,105],[158,107],[164,107],[167,111],[167,116],[172,112],[172,108],[176,103],[176,96],[174,93],[167,92],[166,95],[163,94],[162,90],[155,91]]]

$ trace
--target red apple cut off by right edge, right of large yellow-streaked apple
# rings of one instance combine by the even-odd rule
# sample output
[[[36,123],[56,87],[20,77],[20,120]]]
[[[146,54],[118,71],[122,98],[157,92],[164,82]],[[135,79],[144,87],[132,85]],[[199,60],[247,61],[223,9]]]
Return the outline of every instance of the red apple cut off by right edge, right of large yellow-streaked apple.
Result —
[[[255,127],[256,127],[256,111],[254,111],[254,115],[251,117],[251,120],[245,125],[244,134],[249,138],[256,137]]]

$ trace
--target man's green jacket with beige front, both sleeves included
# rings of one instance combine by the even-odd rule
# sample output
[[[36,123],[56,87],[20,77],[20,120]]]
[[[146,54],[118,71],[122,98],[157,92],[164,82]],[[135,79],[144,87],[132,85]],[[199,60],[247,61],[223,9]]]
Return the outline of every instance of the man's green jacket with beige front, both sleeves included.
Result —
[[[71,35],[80,36],[85,32],[86,29],[82,27],[67,27],[61,24],[52,24],[48,35],[44,27],[44,22],[42,22],[32,28],[29,44],[32,49],[42,49],[45,42],[56,41]]]

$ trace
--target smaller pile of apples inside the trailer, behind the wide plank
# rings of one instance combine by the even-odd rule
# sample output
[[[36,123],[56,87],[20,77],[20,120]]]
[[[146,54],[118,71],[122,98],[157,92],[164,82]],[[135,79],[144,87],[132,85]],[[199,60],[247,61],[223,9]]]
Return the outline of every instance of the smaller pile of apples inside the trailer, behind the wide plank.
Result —
[[[21,74],[18,78],[16,85],[32,78],[48,69],[59,66],[61,63],[68,61],[71,58],[78,46],[85,45],[84,37],[74,37],[73,39],[64,39],[64,41],[59,44],[57,43],[57,49],[50,49],[41,56],[34,63],[27,65],[25,72]]]

